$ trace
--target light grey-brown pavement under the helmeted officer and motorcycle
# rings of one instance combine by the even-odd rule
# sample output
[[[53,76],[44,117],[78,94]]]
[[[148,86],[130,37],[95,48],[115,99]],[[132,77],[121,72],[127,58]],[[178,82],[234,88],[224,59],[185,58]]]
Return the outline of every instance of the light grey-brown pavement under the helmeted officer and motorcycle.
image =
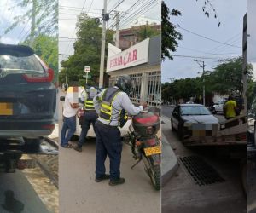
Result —
[[[95,153],[95,140],[84,144],[82,153],[60,147],[61,213],[160,212],[160,191],[155,191],[152,187],[150,179],[143,169],[143,162],[131,170],[131,165],[136,163],[132,158],[131,147],[125,144],[123,146],[121,176],[125,177],[125,184],[114,187],[109,186],[108,181],[99,183],[94,181]],[[107,158],[107,171],[109,171],[108,164]]]

